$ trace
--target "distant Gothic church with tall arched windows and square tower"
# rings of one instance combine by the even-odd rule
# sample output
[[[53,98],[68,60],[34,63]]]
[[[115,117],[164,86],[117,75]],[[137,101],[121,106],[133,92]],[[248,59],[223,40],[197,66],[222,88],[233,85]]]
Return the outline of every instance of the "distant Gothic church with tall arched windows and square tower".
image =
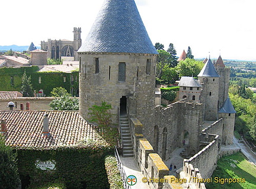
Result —
[[[47,58],[78,61],[78,49],[81,47],[81,28],[73,28],[73,41],[51,40],[41,41],[41,50],[47,52]]]

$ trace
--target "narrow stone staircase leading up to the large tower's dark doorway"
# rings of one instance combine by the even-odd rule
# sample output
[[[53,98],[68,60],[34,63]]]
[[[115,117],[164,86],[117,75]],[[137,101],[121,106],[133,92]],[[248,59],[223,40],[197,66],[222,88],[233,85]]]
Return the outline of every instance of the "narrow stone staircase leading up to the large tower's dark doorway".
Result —
[[[119,123],[123,142],[123,157],[133,157],[132,137],[127,116],[120,116]]]

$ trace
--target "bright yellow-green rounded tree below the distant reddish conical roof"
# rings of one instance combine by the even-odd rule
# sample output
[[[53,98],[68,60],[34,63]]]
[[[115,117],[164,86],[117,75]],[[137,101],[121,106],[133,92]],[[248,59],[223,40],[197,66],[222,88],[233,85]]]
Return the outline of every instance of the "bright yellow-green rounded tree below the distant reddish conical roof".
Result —
[[[176,70],[180,76],[197,76],[203,66],[203,62],[187,58],[178,63]]]

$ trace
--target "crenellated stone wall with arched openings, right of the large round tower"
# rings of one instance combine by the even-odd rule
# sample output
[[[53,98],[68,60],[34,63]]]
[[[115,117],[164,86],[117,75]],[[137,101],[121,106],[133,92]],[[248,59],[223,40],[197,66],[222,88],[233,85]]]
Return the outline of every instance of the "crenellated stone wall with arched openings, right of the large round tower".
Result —
[[[168,159],[177,146],[183,146],[183,140],[188,132],[186,139],[186,144],[190,147],[188,153],[196,153],[199,151],[202,120],[202,104],[181,100],[167,107],[156,106],[155,126],[147,127],[147,132],[143,134],[152,143],[155,152],[158,152],[163,159]]]

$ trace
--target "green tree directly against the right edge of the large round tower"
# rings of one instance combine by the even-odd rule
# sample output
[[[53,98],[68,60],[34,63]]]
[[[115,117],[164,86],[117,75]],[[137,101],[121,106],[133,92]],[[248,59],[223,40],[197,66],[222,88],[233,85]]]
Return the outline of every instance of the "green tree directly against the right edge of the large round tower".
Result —
[[[158,62],[156,63],[156,77],[161,79],[162,77],[162,69],[164,69],[165,65],[169,66],[169,63],[172,61],[171,55],[165,50],[158,50]]]

